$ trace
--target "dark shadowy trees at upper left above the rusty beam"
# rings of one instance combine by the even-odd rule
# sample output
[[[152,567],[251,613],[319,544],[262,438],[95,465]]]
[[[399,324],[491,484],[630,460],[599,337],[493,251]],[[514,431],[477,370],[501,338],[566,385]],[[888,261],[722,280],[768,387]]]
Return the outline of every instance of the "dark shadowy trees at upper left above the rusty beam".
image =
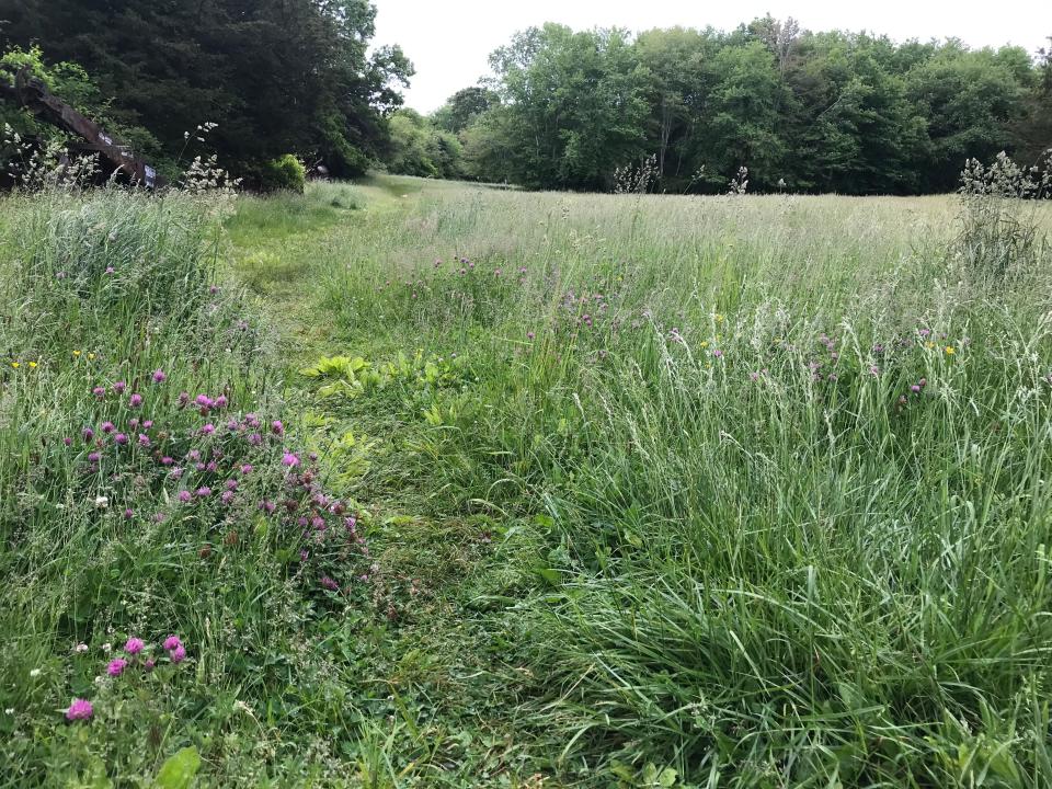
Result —
[[[0,44],[79,64],[113,119],[156,136],[151,156],[214,123],[238,175],[293,152],[351,176],[384,150],[412,75],[398,47],[367,52],[375,16],[367,0],[0,0]]]

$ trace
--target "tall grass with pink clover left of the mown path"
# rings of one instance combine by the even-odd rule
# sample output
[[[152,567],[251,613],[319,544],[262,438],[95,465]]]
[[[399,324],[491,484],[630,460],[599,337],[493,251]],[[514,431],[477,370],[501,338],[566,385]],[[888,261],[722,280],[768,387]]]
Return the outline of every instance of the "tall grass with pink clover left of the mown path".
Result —
[[[355,736],[309,644],[325,611],[368,618],[365,525],[286,431],[265,332],[216,278],[214,206],[3,208],[0,785],[306,775]],[[316,704],[305,754],[277,721]]]

